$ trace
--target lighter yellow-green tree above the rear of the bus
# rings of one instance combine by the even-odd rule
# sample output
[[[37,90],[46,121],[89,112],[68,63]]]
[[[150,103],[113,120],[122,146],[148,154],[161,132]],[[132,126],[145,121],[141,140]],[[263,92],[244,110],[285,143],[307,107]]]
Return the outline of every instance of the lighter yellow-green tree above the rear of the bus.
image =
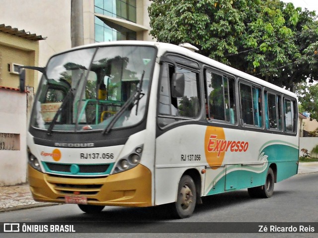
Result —
[[[280,0],[264,1],[256,12],[242,39],[249,51],[239,58],[247,62],[247,72],[292,91],[308,77],[317,80],[315,12]],[[246,66],[239,69],[246,71]]]

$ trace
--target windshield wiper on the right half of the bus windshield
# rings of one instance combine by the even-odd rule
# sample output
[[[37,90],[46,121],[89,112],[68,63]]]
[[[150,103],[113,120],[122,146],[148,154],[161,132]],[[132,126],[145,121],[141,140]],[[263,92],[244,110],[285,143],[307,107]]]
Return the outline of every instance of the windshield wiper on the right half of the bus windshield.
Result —
[[[143,86],[143,82],[144,82],[144,75],[145,75],[145,70],[143,72],[143,75],[140,79],[139,82],[139,86],[136,88],[136,92],[135,94],[133,94],[132,96],[130,96],[130,98],[125,102],[125,104],[120,108],[120,110],[118,111],[118,113],[114,116],[114,118],[109,122],[109,124],[106,126],[106,128],[103,130],[102,134],[108,134],[109,131],[111,130],[111,128],[114,126],[114,124],[116,123],[116,121],[121,117],[121,115],[125,112],[125,110],[130,106],[131,103],[133,103],[135,105],[136,102],[136,115],[137,115],[137,110],[138,110],[138,104],[139,104],[139,100],[145,95],[144,93],[142,93],[142,86]],[[140,96],[141,95],[141,96]],[[137,100],[137,101],[136,101]]]

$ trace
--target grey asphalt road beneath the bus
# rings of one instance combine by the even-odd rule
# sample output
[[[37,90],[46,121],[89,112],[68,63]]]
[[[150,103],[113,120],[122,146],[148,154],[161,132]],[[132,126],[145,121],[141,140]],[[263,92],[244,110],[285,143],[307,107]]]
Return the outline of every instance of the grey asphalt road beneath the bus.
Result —
[[[183,234],[184,237],[211,237],[211,234],[198,234],[198,222],[316,222],[318,223],[318,173],[296,175],[275,184],[274,196],[270,199],[249,198],[247,190],[210,196],[204,204],[197,207],[191,218],[174,220],[165,207],[154,208],[118,208],[106,207],[98,215],[83,214],[76,205],[58,205],[38,207],[19,211],[0,213],[0,222],[84,222],[87,231],[99,234],[69,234],[71,237],[105,237],[109,222],[125,232],[131,228],[123,222],[140,222],[136,232],[158,228],[158,222],[174,222],[176,228],[192,226],[194,234]],[[98,223],[97,222],[102,222]],[[146,223],[147,222],[147,223]],[[184,225],[182,224],[184,223]],[[94,226],[92,226],[95,224]],[[113,225],[113,224],[111,224]],[[138,230],[139,229],[139,230]],[[127,230],[130,231],[130,230]],[[3,235],[3,234],[2,234]],[[6,237],[43,237],[43,234],[16,234]],[[30,236],[29,236],[30,235]],[[32,236],[31,236],[32,235]],[[42,236],[38,236],[42,235]],[[63,237],[63,234],[46,234],[47,237]],[[67,234],[64,234],[67,235]],[[162,237],[164,234],[107,234],[107,237]],[[260,234],[258,234],[260,235]],[[64,237],[69,237],[64,236]],[[255,237],[255,234],[214,234],[213,237]],[[0,234],[1,237],[1,234]],[[167,237],[167,236],[166,236]],[[169,234],[168,237],[180,237],[180,234]],[[317,237],[316,234],[261,234],[261,237]]]

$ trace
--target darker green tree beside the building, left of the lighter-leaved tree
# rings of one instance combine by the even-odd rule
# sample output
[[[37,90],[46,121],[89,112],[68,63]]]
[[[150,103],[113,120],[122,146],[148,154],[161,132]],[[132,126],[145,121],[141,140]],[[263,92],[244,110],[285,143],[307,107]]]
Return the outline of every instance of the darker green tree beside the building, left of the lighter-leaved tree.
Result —
[[[260,0],[153,0],[149,7],[151,35],[160,42],[188,42],[200,53],[229,63],[238,53],[239,36],[251,5]]]

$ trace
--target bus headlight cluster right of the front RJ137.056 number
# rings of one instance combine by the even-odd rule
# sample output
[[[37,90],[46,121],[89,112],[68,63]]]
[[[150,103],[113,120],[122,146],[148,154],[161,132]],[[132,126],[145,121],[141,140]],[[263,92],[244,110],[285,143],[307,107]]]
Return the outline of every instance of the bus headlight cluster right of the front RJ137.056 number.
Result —
[[[136,167],[140,163],[141,155],[143,152],[143,145],[138,146],[129,155],[120,159],[116,165],[112,174],[117,174],[126,170],[130,170]]]

